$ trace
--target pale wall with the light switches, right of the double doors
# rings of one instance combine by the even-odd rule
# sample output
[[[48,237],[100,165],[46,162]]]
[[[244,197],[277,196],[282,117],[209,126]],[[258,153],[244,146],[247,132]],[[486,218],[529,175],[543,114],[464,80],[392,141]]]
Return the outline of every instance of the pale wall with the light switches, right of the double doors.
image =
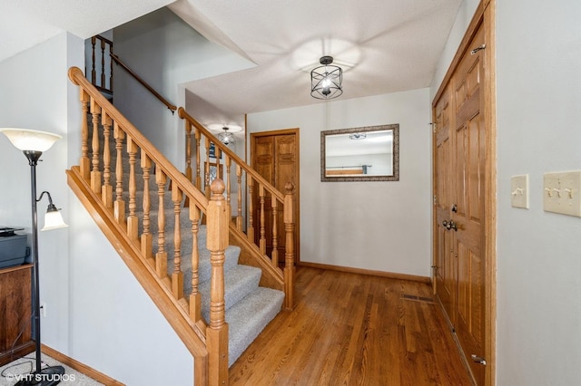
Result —
[[[543,211],[543,173],[581,169],[581,3],[497,1],[497,384],[581,373],[581,218]],[[529,175],[530,209],[510,206]]]

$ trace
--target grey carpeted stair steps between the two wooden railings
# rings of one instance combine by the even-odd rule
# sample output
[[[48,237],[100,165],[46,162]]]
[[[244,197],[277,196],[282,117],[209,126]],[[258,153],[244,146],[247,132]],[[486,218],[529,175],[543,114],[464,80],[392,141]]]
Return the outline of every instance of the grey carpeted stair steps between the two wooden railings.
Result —
[[[90,130],[91,134],[91,130]],[[102,143],[103,146],[103,143]],[[112,147],[112,152],[114,148]],[[129,185],[129,158],[123,155],[123,186]],[[116,158],[112,157],[112,164],[116,163]],[[136,170],[135,179],[143,181],[143,172]],[[149,182],[149,199],[150,202],[158,200],[157,186],[153,179]],[[139,194],[135,195],[135,204],[138,208],[143,208],[143,189],[137,187]],[[129,202],[129,193],[123,194],[125,202]],[[180,201],[180,207],[183,207],[184,200]],[[166,187],[163,195],[164,203],[164,223],[172,224],[174,221],[174,205],[172,201],[172,191]],[[137,211],[136,216],[139,223],[143,224],[143,210]],[[150,212],[150,221],[152,224],[151,232],[157,233],[159,224],[159,210]],[[192,227],[188,213],[181,211],[180,227]],[[142,226],[143,229],[143,226]],[[167,229],[164,238],[164,249],[167,258],[167,277],[171,277],[175,271],[174,256],[175,243],[172,228]],[[206,248],[207,227],[199,225],[197,234],[197,250],[199,254],[198,263],[198,291],[202,295],[202,318],[210,320],[210,295],[212,282],[212,264],[210,261],[210,250]],[[193,247],[192,233],[185,233],[181,240],[181,256],[192,256]],[[159,251],[158,239],[153,240],[153,254]],[[227,246],[224,250],[224,308],[226,323],[229,324],[228,330],[228,366],[236,362],[238,357],[252,343],[259,333],[266,327],[271,320],[281,311],[281,305],[284,300],[284,293],[280,290],[259,286],[262,271],[260,268],[251,265],[239,264],[241,253],[240,246]],[[183,271],[183,296],[188,298],[192,294],[192,259],[183,258],[181,262]],[[168,280],[169,285],[169,280]]]

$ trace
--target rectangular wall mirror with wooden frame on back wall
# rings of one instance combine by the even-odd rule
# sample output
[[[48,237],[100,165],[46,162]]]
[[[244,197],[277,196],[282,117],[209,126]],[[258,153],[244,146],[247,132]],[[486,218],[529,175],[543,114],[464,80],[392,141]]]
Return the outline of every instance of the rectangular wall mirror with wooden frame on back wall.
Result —
[[[399,124],[321,131],[320,180],[399,181]]]

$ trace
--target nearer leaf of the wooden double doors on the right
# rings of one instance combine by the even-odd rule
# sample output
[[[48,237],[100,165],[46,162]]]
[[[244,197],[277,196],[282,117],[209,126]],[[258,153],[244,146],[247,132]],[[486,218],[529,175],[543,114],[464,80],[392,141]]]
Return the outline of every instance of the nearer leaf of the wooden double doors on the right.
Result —
[[[472,46],[484,44],[480,28]],[[485,366],[485,166],[486,127],[484,121],[483,54],[467,53],[455,77],[456,203],[452,213],[456,223],[454,249],[458,255],[458,302],[456,331],[458,341],[478,384],[484,384]]]

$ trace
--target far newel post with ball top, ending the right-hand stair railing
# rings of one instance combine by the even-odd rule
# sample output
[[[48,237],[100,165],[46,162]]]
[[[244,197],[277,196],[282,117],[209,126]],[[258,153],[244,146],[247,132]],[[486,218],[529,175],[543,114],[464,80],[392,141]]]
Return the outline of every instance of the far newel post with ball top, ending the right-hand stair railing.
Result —
[[[287,182],[284,186],[284,231],[286,240],[284,243],[284,309],[291,311],[294,308],[294,185]]]

